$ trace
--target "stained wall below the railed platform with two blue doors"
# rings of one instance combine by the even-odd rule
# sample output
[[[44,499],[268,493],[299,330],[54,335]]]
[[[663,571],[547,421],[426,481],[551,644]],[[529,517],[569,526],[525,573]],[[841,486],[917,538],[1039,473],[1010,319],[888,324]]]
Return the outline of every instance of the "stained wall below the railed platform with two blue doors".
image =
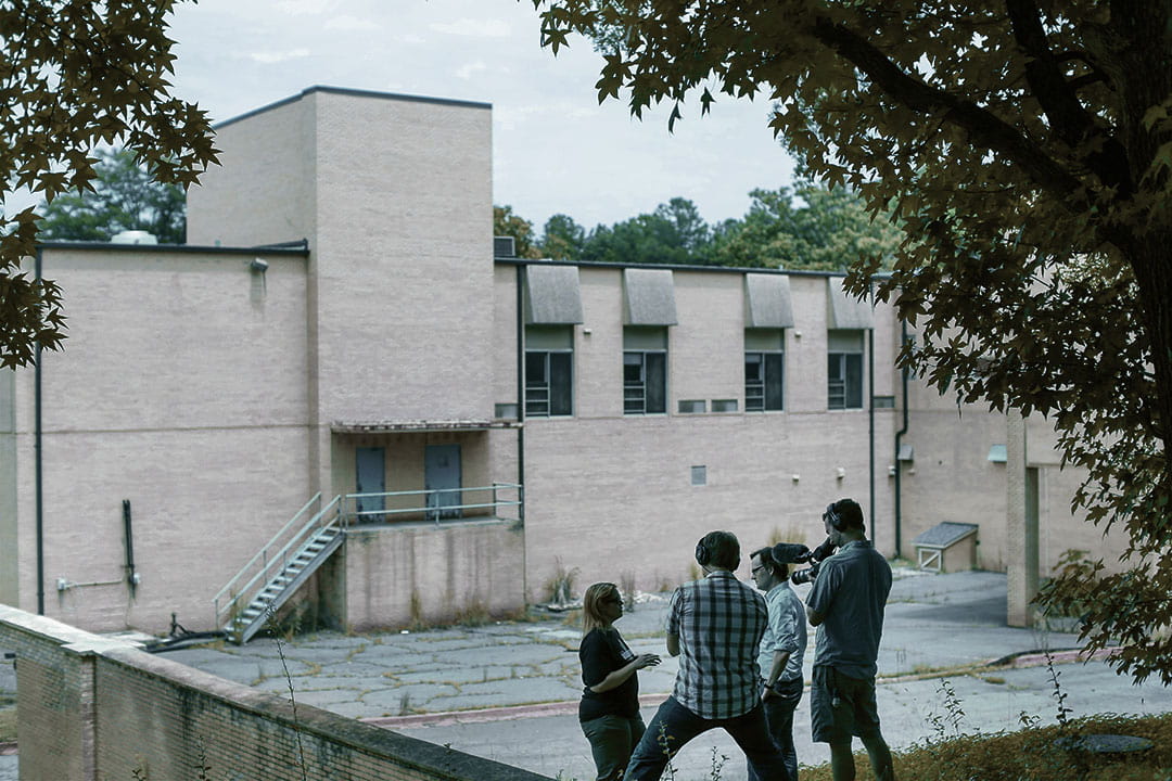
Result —
[[[346,533],[346,614],[363,631],[456,623],[525,608],[525,528],[445,521]]]

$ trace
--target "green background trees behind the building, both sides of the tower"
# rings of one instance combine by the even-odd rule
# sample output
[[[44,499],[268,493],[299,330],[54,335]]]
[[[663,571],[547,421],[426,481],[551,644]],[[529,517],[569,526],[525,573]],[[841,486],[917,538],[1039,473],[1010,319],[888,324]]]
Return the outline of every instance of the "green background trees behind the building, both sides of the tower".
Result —
[[[183,244],[183,189],[155,181],[125,150],[95,156],[93,190],[62,193],[43,205],[41,238],[109,241],[122,231],[146,231],[163,244]],[[704,221],[693,201],[673,198],[653,212],[590,231],[568,214],[554,214],[540,235],[511,206],[495,206],[493,229],[516,240],[520,258],[822,270],[872,256],[890,268],[902,240],[887,215],[872,219],[846,187],[802,180],[749,196],[743,218],[715,224]]]

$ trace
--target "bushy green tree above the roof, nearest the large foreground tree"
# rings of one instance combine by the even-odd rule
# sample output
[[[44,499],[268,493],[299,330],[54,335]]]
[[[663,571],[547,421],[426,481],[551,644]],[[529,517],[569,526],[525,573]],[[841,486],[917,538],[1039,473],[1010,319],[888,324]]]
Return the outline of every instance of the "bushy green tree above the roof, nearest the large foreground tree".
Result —
[[[743,220],[716,231],[710,262],[742,268],[840,270],[875,256],[890,268],[902,233],[884,217],[867,214],[849,187],[804,181],[795,190],[754,190]],[[797,201],[797,203],[795,203]]]

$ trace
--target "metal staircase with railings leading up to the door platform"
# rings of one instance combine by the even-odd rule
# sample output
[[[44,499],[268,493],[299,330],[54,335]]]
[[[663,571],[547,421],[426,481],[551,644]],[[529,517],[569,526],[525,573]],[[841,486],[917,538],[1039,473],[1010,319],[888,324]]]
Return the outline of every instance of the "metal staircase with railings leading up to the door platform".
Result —
[[[341,547],[341,496],[320,505],[319,493],[216,595],[216,625],[237,645],[252,639]]]

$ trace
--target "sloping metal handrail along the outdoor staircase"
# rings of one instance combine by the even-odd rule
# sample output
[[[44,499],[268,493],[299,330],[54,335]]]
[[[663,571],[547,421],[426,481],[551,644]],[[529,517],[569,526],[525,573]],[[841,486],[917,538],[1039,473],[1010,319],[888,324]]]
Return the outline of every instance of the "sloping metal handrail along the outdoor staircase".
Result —
[[[230,618],[238,615],[244,605],[268,583],[277,573],[282,571],[289,560],[314,535],[322,529],[342,522],[342,498],[334,496],[325,507],[321,506],[321,492],[314,494],[273,539],[257,552],[212,600],[216,609],[216,626],[224,626]],[[306,515],[309,515],[306,520]]]

